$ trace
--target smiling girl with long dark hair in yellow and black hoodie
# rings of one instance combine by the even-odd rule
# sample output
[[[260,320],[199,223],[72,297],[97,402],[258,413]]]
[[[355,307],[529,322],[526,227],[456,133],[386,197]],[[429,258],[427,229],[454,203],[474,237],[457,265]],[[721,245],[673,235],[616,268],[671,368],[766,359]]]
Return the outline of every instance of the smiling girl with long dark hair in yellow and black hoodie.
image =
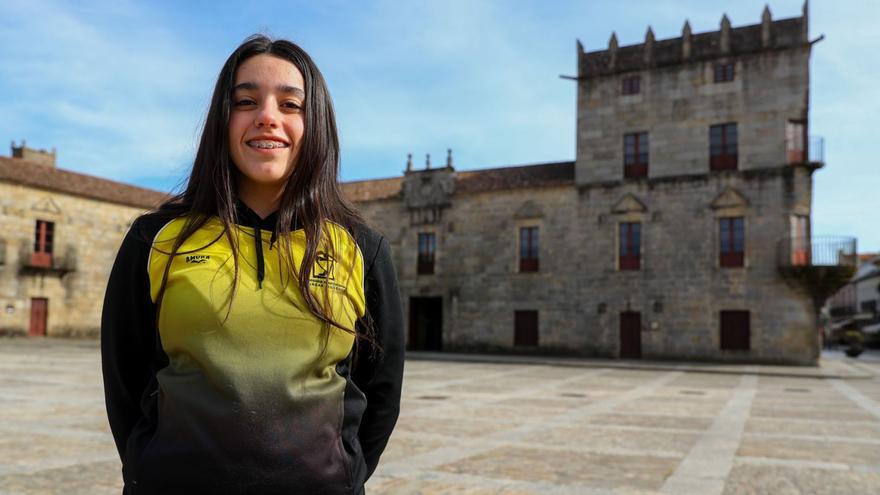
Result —
[[[403,318],[387,241],[337,181],[326,84],[245,40],[186,190],[138,218],[101,351],[124,493],[360,494],[397,420]]]

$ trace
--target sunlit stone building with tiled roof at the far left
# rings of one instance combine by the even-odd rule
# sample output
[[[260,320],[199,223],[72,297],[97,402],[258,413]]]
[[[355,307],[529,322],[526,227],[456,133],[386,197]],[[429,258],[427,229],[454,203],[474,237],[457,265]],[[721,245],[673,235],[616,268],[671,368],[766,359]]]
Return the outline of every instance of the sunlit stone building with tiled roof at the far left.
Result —
[[[0,335],[97,335],[119,243],[164,198],[13,143],[0,157]]]

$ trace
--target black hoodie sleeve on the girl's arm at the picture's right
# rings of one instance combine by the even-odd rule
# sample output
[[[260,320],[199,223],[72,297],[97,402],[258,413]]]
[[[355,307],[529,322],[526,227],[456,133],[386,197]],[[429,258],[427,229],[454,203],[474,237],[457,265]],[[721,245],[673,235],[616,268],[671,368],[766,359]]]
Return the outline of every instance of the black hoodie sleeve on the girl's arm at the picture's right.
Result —
[[[369,478],[397,423],[403,384],[403,309],[391,249],[384,238],[379,239],[365,282],[367,312],[372,317],[375,338],[382,348],[376,355],[371,352],[368,342],[359,343],[360,362],[355,372],[355,382],[367,396],[367,409],[361,420],[358,439]]]

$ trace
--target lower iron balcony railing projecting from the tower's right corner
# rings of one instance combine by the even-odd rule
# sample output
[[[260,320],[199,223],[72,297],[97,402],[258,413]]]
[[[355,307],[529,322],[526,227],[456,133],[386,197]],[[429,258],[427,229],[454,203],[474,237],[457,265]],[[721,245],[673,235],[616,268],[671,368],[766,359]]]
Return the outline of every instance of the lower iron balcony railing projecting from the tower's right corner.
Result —
[[[785,237],[777,245],[779,266],[856,266],[856,238]]]

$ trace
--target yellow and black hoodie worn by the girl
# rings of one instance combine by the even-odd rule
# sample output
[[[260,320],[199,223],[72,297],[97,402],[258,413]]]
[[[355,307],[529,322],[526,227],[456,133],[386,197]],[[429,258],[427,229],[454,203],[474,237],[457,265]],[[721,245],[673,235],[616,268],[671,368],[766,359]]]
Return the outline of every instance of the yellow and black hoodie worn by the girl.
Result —
[[[329,297],[347,328],[360,331],[370,315],[382,348],[375,353],[335,327],[324,340],[296,281],[282,280],[276,215],[260,219],[240,202],[236,211],[231,306],[235,270],[219,220],[174,257],[158,316],[167,253],[184,219],[170,210],[144,215],[122,242],[101,351],[124,493],[363,493],[397,421],[403,375],[388,243],[328,223],[335,251],[319,250],[308,274],[318,301]],[[298,267],[304,231],[290,241]]]

